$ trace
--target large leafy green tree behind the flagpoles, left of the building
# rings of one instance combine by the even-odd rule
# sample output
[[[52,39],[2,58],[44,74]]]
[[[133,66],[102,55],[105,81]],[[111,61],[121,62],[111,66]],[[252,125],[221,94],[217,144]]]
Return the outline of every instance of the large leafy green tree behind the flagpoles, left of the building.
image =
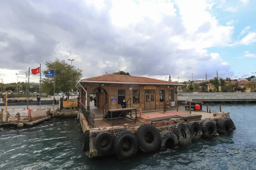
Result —
[[[76,83],[82,77],[82,70],[67,64],[65,60],[55,59],[54,62],[45,62],[48,71],[55,70],[55,92],[64,92],[69,98],[71,89],[75,89]],[[45,77],[42,79],[42,91],[53,95],[54,77]]]

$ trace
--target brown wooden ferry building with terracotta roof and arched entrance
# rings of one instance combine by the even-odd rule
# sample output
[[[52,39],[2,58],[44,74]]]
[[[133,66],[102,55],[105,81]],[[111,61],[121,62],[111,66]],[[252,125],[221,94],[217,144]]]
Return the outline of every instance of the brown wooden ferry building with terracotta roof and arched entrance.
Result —
[[[81,99],[87,111],[90,111],[90,94],[96,94],[99,109],[103,109],[104,104],[107,109],[122,108],[121,103],[125,99],[128,107],[149,111],[163,109],[166,100],[177,101],[177,87],[183,84],[172,82],[171,77],[169,81],[163,81],[148,77],[105,74],[82,79],[77,85],[81,86]]]

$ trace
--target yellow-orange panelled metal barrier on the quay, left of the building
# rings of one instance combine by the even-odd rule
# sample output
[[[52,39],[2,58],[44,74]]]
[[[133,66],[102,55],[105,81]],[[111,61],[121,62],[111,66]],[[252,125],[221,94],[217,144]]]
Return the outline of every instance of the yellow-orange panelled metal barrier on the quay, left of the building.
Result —
[[[69,99],[65,100],[62,99],[60,100],[60,110],[61,111],[78,111],[79,110],[79,98],[76,99]]]

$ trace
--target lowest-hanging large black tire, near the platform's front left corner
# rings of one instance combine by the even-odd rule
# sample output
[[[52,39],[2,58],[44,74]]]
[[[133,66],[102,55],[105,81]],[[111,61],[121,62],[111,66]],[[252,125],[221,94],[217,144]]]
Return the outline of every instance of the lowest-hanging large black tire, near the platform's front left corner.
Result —
[[[115,136],[114,154],[119,159],[130,159],[137,153],[138,139],[129,130],[122,130]]]

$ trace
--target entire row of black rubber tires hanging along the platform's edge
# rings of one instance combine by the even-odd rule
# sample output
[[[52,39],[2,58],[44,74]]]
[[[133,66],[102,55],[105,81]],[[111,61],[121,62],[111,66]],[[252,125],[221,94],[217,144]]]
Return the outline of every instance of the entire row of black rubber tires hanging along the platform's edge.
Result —
[[[97,134],[94,138],[94,147],[99,155],[114,153],[119,159],[130,159],[137,153],[138,148],[143,152],[153,152],[158,149],[175,149],[178,146],[189,146],[192,141],[204,138],[214,138],[220,134],[228,134],[236,129],[231,119],[218,119],[215,122],[205,120],[203,122],[191,121],[186,125],[177,123],[172,131],[159,130],[153,125],[141,125],[136,133],[130,130],[122,130],[115,137],[108,131]],[[84,132],[82,150],[89,150],[89,130]]]

